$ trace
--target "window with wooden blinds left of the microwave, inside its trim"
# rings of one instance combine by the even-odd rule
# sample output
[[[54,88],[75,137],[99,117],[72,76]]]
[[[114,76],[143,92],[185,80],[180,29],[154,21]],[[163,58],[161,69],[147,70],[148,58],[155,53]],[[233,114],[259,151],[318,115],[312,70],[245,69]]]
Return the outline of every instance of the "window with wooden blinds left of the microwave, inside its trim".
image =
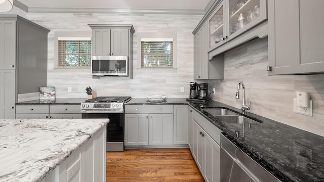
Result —
[[[58,40],[58,67],[90,67],[91,40]]]

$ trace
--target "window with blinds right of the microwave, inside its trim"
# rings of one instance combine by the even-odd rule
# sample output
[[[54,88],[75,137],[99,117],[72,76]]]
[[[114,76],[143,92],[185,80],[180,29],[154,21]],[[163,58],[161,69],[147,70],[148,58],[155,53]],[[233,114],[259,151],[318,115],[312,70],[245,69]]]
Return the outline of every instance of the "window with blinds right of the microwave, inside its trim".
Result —
[[[173,39],[142,39],[142,68],[173,68]]]

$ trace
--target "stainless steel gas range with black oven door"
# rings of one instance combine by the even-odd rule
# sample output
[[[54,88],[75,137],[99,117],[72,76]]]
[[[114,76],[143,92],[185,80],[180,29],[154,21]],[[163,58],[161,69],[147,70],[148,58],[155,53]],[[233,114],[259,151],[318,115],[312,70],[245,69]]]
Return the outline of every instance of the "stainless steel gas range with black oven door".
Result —
[[[124,151],[124,103],[131,97],[96,97],[81,103],[82,118],[108,118],[107,152]]]

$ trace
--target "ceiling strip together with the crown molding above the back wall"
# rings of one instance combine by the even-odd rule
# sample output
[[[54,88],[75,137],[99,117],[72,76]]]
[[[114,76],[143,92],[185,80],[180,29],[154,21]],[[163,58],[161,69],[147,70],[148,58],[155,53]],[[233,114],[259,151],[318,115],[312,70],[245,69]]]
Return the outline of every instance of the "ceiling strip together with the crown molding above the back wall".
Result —
[[[192,12],[205,13],[211,0],[14,0],[28,12]],[[200,12],[200,13],[199,13]]]

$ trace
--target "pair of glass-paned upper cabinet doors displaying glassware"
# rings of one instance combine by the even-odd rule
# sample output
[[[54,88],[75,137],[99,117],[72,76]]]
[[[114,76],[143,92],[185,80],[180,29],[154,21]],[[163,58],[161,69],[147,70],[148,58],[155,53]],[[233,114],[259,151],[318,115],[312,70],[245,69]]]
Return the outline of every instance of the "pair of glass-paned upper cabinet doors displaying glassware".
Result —
[[[267,19],[266,0],[223,0],[209,19],[210,50]]]

